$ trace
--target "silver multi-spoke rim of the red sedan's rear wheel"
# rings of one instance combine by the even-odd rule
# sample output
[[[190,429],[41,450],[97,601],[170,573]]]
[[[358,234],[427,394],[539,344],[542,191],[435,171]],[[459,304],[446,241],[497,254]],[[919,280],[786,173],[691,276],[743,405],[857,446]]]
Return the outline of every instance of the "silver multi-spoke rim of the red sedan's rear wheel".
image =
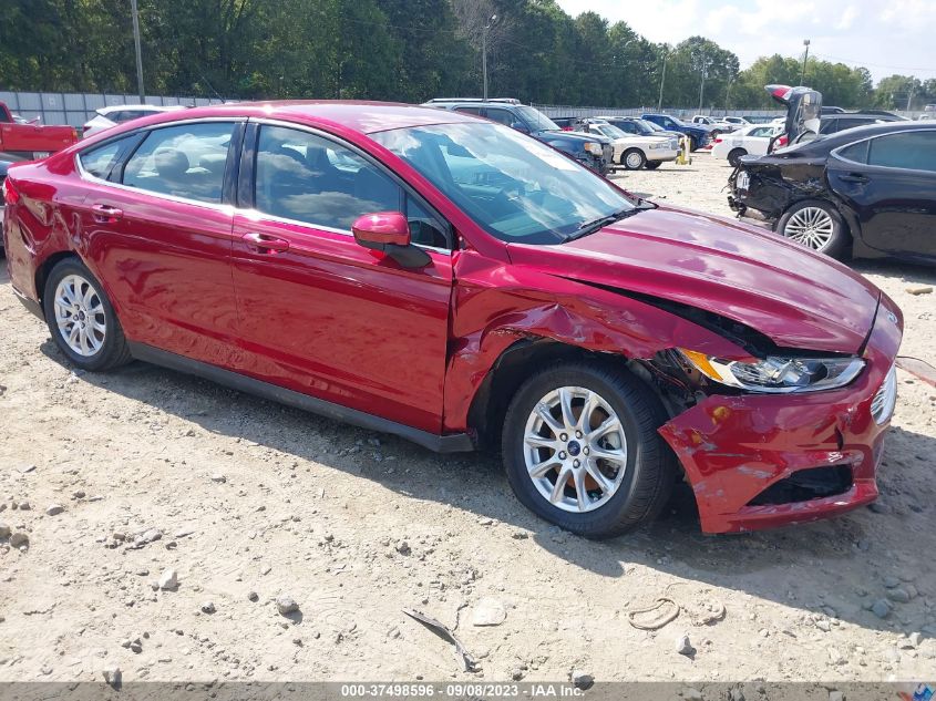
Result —
[[[104,303],[80,275],[66,275],[55,287],[55,324],[65,344],[90,358],[101,350],[107,332]]]

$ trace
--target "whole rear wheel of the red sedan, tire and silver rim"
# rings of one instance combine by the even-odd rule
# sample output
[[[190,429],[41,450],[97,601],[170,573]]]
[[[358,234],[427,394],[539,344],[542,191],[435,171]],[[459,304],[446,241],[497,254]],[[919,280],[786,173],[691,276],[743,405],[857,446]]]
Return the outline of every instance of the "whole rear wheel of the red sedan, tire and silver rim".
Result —
[[[123,329],[103,290],[78,258],[56,262],[45,280],[42,307],[49,331],[72,364],[82,370],[110,370],[132,360]]]

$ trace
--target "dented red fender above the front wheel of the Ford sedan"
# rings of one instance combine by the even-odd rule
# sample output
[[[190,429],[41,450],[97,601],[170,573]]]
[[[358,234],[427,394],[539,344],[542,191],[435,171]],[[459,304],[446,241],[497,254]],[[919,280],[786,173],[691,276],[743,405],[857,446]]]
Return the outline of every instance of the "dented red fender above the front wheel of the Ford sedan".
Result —
[[[650,359],[676,346],[750,360],[722,336],[642,301],[533,268],[507,266],[472,250],[453,261],[444,430],[466,431],[469,410],[501,354],[523,339]]]

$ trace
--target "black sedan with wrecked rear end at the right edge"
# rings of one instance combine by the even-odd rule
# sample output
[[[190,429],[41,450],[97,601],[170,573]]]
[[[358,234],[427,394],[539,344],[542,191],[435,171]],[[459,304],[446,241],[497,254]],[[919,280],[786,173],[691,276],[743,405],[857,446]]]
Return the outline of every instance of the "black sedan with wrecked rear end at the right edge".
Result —
[[[778,234],[835,258],[936,264],[936,124],[803,136],[741,158],[729,178],[733,209],[755,209]]]

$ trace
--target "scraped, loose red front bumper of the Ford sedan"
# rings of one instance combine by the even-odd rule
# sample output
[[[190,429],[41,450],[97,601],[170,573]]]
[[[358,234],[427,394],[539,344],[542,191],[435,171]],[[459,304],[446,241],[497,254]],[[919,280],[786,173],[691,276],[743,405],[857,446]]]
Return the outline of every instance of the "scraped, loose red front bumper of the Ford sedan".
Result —
[[[888,312],[891,312],[888,315]],[[882,296],[863,358],[846,388],[805,394],[711,395],[660,427],[692,486],[706,533],[738,533],[815,520],[870,504],[889,417],[871,404],[901,344],[899,311]],[[763,503],[764,492],[794,473],[850,473],[842,493]],[[806,473],[803,473],[806,474]]]

